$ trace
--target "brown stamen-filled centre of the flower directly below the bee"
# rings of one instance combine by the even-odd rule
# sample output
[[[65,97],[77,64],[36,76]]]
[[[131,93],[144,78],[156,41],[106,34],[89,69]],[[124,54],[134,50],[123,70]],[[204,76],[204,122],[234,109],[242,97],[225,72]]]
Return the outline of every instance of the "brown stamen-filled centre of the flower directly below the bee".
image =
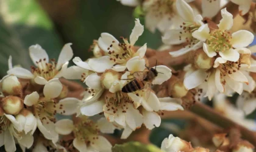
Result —
[[[109,94],[105,96],[105,102],[107,107],[107,113],[115,114],[118,111],[126,112],[128,109],[128,104],[132,103],[133,101],[120,91],[116,92],[115,94]]]

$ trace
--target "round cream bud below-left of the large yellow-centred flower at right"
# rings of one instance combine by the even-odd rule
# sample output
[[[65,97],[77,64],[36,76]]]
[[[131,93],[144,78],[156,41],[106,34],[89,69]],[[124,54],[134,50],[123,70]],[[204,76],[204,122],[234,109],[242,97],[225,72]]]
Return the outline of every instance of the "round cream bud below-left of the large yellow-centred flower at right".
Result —
[[[194,65],[199,69],[208,70],[213,67],[215,58],[209,58],[203,50],[197,50],[194,55]]]

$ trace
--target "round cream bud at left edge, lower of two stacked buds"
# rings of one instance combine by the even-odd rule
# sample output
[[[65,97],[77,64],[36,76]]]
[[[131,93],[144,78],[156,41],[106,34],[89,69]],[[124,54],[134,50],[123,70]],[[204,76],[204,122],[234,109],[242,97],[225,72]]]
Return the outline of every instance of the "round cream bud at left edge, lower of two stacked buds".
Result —
[[[1,100],[2,109],[6,114],[18,114],[23,109],[23,101],[19,97],[8,96]]]

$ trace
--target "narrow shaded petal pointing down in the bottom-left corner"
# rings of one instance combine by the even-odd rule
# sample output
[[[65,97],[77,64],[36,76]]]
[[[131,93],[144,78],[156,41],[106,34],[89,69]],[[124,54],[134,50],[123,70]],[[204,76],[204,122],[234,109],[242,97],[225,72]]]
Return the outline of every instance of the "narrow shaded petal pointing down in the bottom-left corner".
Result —
[[[15,140],[9,130],[4,131],[4,149],[6,151],[16,151]]]

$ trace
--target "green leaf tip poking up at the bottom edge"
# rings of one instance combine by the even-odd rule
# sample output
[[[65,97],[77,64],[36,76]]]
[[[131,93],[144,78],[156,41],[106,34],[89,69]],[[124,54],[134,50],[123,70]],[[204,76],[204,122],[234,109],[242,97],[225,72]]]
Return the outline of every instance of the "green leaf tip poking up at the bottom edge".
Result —
[[[122,145],[115,145],[112,148],[113,152],[162,152],[160,148],[155,145],[145,145],[140,142],[127,142]]]

